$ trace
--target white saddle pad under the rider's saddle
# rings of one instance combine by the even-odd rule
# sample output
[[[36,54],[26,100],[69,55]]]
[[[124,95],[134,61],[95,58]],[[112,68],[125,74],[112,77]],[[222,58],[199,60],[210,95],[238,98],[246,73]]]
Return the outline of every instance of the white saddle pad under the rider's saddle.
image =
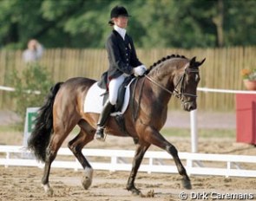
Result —
[[[130,81],[125,90],[124,101],[121,107],[121,112],[111,113],[111,116],[115,116],[117,114],[122,114],[126,111],[128,107],[128,102],[130,98],[130,84],[134,81]],[[85,97],[83,104],[83,112],[84,113],[102,113],[103,107],[103,95],[106,92],[105,89],[99,88],[97,82],[95,82],[90,88]]]

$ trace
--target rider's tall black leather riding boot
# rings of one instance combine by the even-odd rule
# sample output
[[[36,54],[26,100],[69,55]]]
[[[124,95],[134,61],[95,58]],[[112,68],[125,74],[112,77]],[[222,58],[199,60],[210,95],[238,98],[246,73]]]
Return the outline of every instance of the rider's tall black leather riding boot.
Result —
[[[114,106],[109,102],[109,100],[105,103],[102,113],[100,114],[98,123],[97,123],[97,130],[95,133],[95,139],[100,141],[104,141],[104,126],[108,120],[108,117],[111,113],[111,110]]]

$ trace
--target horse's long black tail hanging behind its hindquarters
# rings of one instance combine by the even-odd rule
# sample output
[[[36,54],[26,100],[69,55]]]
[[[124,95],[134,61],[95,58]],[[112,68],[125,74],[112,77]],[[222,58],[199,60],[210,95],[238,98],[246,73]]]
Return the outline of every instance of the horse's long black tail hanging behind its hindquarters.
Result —
[[[58,82],[52,88],[43,104],[40,107],[35,127],[28,139],[28,149],[34,152],[36,159],[45,162],[46,149],[49,146],[50,135],[53,132],[53,103],[56,94],[63,82]]]

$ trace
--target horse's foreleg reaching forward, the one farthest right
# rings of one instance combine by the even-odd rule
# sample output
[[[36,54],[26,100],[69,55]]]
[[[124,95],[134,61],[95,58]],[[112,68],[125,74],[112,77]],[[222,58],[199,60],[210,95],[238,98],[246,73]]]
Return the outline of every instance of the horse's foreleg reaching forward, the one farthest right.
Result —
[[[154,128],[152,128],[152,127],[149,127],[147,129],[147,134],[145,135],[145,140],[147,140],[148,143],[151,143],[154,146],[158,146],[161,149],[166,150],[168,153],[170,153],[173,156],[175,165],[177,166],[177,169],[178,169],[178,172],[182,176],[183,187],[186,189],[191,189],[192,186],[190,183],[190,179],[187,176],[187,171],[186,171],[185,167],[181,163],[181,159],[178,156],[178,151],[177,151],[176,147],[174,145],[172,145],[171,143],[169,143],[166,139],[164,139],[161,136],[161,133],[154,130]]]

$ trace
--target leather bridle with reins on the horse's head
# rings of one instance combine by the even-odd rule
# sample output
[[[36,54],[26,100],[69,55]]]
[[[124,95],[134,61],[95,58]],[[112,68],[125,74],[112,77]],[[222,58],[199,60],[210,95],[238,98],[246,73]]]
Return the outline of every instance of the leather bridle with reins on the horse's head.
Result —
[[[195,94],[188,94],[188,93],[184,93],[185,91],[185,85],[184,85],[184,81],[186,78],[187,73],[199,73],[199,69],[193,69],[193,68],[188,68],[186,67],[184,70],[183,75],[181,75],[179,81],[177,82],[177,84],[174,86],[174,91],[170,91],[169,89],[161,86],[161,84],[159,84],[157,81],[154,81],[150,76],[145,75],[145,77],[149,80],[152,81],[157,87],[161,88],[162,90],[166,91],[168,94],[174,94],[175,97],[179,98],[182,100],[183,96],[190,96],[190,97],[197,97],[197,95]],[[177,89],[177,87],[179,86],[179,84],[181,83],[181,89],[180,91]],[[183,101],[183,100],[182,100]]]

